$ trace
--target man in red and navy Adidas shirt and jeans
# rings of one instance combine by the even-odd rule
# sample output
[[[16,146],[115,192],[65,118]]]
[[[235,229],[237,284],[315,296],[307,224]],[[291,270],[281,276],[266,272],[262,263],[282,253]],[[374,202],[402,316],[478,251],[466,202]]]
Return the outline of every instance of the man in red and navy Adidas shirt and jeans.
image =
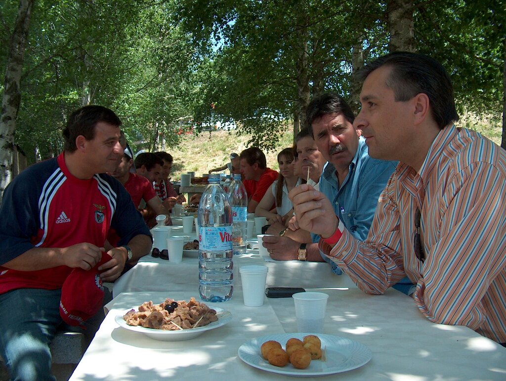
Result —
[[[125,262],[151,248],[149,230],[129,194],[105,174],[123,156],[120,124],[105,107],[73,112],[63,131],[64,152],[28,167],[5,189],[0,208],[0,354],[11,379],[54,379],[49,346],[63,322],[63,283],[73,269],[90,270],[101,261],[110,228],[121,238],[107,252],[112,259],[98,267],[102,281],[116,279]],[[79,293],[74,297],[83,299]],[[100,308],[83,322],[88,341],[103,316]]]

